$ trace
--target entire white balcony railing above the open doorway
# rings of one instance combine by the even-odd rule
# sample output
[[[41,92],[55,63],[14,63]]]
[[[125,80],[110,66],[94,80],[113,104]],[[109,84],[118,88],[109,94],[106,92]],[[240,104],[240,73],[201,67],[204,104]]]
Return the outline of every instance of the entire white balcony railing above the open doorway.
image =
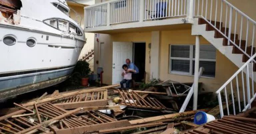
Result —
[[[186,17],[192,7],[190,0],[111,0],[85,7],[85,28]]]

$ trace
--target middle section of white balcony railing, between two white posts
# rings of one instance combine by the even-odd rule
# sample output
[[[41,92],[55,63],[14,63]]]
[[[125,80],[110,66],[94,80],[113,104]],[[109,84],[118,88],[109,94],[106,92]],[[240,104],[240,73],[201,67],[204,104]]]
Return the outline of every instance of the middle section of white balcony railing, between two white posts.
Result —
[[[110,3],[110,24],[139,21],[140,0]]]

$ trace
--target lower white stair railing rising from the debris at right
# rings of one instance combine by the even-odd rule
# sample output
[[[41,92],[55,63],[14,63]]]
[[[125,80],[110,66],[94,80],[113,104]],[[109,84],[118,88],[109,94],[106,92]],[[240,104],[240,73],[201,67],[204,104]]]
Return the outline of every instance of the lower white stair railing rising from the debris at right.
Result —
[[[243,110],[245,111],[248,108],[251,108],[251,103],[252,101],[255,99],[256,97],[256,93],[254,92],[254,78],[253,78],[253,59],[256,57],[256,53],[246,62],[244,63],[244,65],[239,68],[239,70],[237,70],[236,73],[234,73],[230,79],[225,82],[220,88],[219,90],[216,91],[216,94],[218,95],[218,101],[219,101],[219,107],[220,107],[220,115],[221,118],[224,116],[224,111],[223,111],[223,106],[222,106],[222,98],[221,98],[221,92],[223,92],[224,90],[224,100],[226,103],[226,107],[227,107],[227,114],[229,115],[229,100],[228,100],[228,94],[227,94],[227,88],[228,86],[230,86],[230,94],[231,94],[231,103],[233,105],[233,114],[236,115],[236,102],[235,102],[235,98],[234,98],[234,91],[233,91],[233,87],[236,87],[236,92],[237,92],[237,104],[238,104],[238,110],[239,112],[241,112],[241,104],[240,104],[240,91],[242,90],[243,92]],[[249,66],[250,69],[249,69]],[[244,83],[244,72],[245,72],[245,82]],[[250,80],[250,74],[251,74],[251,80]],[[233,83],[232,83],[233,81]],[[234,85],[233,85],[234,84]],[[239,85],[242,85],[242,87],[240,87]],[[240,87],[240,89],[239,89]],[[245,91],[246,88],[246,91]],[[252,93],[252,95],[251,95]],[[245,94],[247,94],[247,96],[245,96]],[[247,102],[246,102],[246,98],[247,98]]]

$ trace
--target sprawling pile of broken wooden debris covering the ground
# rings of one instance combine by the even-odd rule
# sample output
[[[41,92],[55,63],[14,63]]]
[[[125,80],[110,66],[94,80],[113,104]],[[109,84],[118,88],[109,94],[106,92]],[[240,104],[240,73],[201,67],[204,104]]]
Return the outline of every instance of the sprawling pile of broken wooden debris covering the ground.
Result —
[[[158,85],[159,86],[159,85]],[[165,85],[166,86],[166,85]],[[175,86],[171,84],[170,86]],[[232,127],[237,122],[248,123],[244,117],[224,117],[199,126],[193,123],[198,111],[178,113],[154,95],[168,96],[167,92],[149,87],[144,91],[118,89],[119,85],[81,89],[52,95],[46,93],[34,101],[14,103],[16,110],[0,117],[0,134],[3,133],[205,133]],[[161,86],[163,87],[163,86]],[[174,94],[177,84],[171,88]],[[183,85],[183,87],[186,87]],[[182,91],[183,92],[183,91]],[[174,94],[172,96],[174,96]],[[251,110],[251,112],[253,112]],[[244,114],[248,115],[248,114]],[[230,122],[230,125],[228,125]],[[232,124],[233,123],[233,124]],[[254,120],[255,123],[255,120]],[[224,125],[224,126],[223,126]],[[242,125],[242,124],[241,124]],[[253,125],[253,124],[251,124]],[[255,124],[254,124],[255,125]],[[249,125],[248,125],[249,126]],[[234,130],[241,126],[234,126]],[[231,128],[230,128],[231,129]],[[245,128],[247,129],[247,128]],[[252,129],[254,130],[254,129]],[[219,131],[225,132],[225,131]],[[240,131],[239,131],[240,132]],[[241,132],[243,132],[241,130]]]

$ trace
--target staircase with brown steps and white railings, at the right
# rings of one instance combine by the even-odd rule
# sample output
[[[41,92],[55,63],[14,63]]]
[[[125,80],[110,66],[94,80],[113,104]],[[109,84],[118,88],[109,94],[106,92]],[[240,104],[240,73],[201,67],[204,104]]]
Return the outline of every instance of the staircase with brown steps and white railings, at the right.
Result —
[[[232,113],[236,115],[250,109],[256,98],[255,25],[254,20],[227,0],[195,0],[192,35],[203,36],[239,68],[216,91],[221,117],[224,116],[222,104],[226,105],[225,113],[230,115],[231,103]]]

